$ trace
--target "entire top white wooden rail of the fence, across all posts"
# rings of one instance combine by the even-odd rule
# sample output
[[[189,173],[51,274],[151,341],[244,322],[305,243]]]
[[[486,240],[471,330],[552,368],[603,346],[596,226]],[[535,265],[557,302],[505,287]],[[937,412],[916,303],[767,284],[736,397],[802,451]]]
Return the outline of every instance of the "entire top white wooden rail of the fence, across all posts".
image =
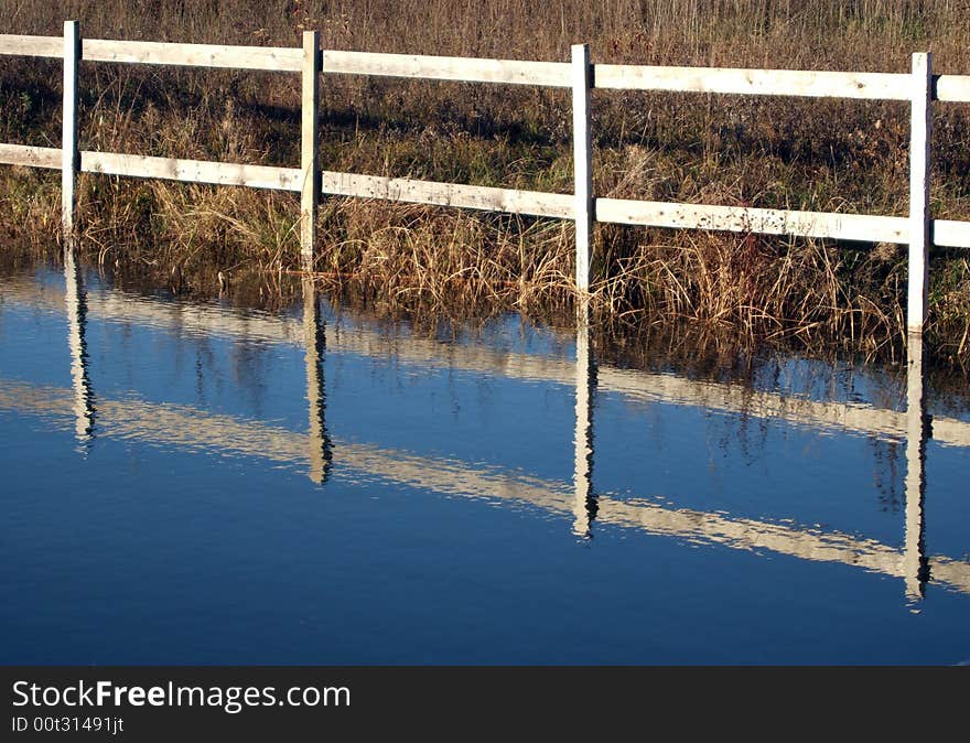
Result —
[[[0,34],[0,54],[64,57],[61,36]],[[301,72],[303,50],[284,46],[228,46],[85,39],[84,62],[174,65],[270,72]],[[604,90],[653,90],[734,95],[909,100],[908,73],[676,67],[593,63],[592,85]],[[487,60],[321,50],[324,74],[497,83],[568,88],[570,63]],[[934,100],[970,103],[970,75],[934,75]]]

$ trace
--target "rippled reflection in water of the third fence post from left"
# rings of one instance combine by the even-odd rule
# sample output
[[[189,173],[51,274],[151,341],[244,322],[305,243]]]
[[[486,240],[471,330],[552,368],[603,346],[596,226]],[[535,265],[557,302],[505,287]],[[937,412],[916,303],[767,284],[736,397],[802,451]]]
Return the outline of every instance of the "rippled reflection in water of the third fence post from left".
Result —
[[[589,302],[579,300],[576,310],[575,366],[575,459],[573,484],[572,531],[584,539],[592,538],[592,523],[596,518],[596,496],[593,493],[593,398],[596,392],[596,363],[590,341]]]

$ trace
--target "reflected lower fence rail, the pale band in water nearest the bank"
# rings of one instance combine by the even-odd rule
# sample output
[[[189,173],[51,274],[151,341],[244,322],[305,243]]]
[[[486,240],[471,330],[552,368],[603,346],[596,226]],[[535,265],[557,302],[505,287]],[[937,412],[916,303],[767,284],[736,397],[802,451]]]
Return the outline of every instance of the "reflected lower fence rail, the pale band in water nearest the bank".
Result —
[[[3,297],[9,302],[63,310],[63,289],[47,284],[39,290],[24,282],[8,282]],[[90,316],[123,320],[160,330],[179,327],[217,337],[259,340],[261,343],[303,345],[300,320],[284,315],[249,316],[229,308],[208,304],[165,303],[158,298],[120,291],[93,291],[88,294]],[[573,362],[558,357],[505,353],[475,346],[456,346],[442,356],[433,340],[410,338],[394,345],[386,335],[368,329],[335,333],[326,327],[326,347],[364,356],[392,354],[402,364],[416,368],[456,368],[478,374],[502,374],[511,378],[545,380],[565,388],[575,383]],[[786,421],[802,428],[853,431],[879,439],[899,441],[906,437],[906,416],[891,409],[873,408],[861,402],[821,402],[775,392],[758,392],[741,385],[724,385],[675,377],[667,374],[625,369],[603,362],[597,365],[597,388],[624,398],[627,403],[654,403],[741,413],[752,419]],[[933,439],[950,446],[970,446],[970,422],[934,416]]]

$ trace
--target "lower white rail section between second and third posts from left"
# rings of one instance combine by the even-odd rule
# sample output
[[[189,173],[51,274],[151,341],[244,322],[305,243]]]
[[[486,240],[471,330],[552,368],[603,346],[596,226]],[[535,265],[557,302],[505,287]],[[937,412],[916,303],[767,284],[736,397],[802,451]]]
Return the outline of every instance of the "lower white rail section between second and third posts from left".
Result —
[[[332,171],[323,171],[321,191],[338,196],[385,198],[395,202],[531,214],[560,219],[572,219],[573,217],[574,197],[572,194],[550,194],[539,191],[516,191],[514,189],[413,181]]]

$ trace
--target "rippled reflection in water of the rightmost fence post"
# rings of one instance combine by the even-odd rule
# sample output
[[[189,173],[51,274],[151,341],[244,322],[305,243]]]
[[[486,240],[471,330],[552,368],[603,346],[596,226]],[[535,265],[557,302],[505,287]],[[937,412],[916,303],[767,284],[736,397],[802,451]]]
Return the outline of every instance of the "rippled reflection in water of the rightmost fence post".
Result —
[[[906,338],[906,543],[903,575],[906,596],[918,601],[928,578],[925,543],[924,498],[926,496],[926,440],[929,416],[926,411],[926,369],[923,365],[923,334]]]

